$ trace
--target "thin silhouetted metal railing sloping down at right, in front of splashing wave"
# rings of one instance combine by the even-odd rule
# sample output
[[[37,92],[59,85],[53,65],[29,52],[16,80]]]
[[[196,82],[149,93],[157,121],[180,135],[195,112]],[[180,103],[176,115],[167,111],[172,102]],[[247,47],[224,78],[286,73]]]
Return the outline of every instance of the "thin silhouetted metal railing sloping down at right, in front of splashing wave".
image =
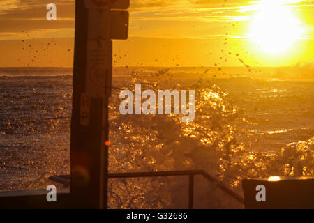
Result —
[[[108,178],[144,178],[144,177],[156,177],[156,176],[188,176],[188,208],[193,209],[194,203],[194,177],[195,175],[200,175],[209,180],[211,183],[223,192],[227,193],[233,199],[237,200],[239,203],[244,203],[244,199],[226,187],[222,183],[218,182],[216,178],[208,174],[203,170],[184,170],[184,171],[157,171],[157,172],[135,172],[135,173],[111,173],[108,174]],[[50,180],[54,180],[65,185],[70,185],[70,176],[50,176]]]

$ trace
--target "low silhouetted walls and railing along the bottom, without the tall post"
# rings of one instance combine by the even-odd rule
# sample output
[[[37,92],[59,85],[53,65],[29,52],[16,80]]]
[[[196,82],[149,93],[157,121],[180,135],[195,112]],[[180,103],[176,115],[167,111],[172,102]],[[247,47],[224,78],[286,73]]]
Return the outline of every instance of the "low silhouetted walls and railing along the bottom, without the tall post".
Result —
[[[230,197],[244,203],[245,208],[314,208],[314,178],[311,177],[244,179],[244,199],[202,170],[114,173],[108,174],[108,178],[188,176],[188,208],[193,208],[195,175],[214,183]],[[50,176],[50,180],[70,185],[69,175]],[[47,202],[46,194],[45,190],[0,192],[0,208],[91,208],[80,203],[69,189],[58,190],[58,202]]]

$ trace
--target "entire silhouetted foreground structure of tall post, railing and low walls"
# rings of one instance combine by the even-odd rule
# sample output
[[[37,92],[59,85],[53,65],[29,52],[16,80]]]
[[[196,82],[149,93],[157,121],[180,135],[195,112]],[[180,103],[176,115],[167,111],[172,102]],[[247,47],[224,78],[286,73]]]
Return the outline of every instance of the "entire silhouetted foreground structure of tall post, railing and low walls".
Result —
[[[110,21],[105,20],[107,21],[107,23],[105,22],[107,29],[100,27],[100,29],[105,29],[101,33],[104,36],[100,35],[99,38],[90,39],[89,35],[91,33],[97,34],[97,31],[91,31],[91,26],[97,26],[97,24],[90,24],[89,11],[84,3],[82,0],[77,0],[75,6],[75,60],[73,68],[70,176],[50,177],[51,180],[68,185],[70,189],[58,190],[57,202],[47,201],[46,190],[0,192],[0,208],[105,209],[107,208],[108,178],[153,176],[187,176],[189,185],[187,208],[193,208],[195,175],[201,175],[209,182],[214,183],[220,190],[229,194],[232,199],[244,203],[245,208],[314,208],[313,178],[289,178],[277,181],[246,179],[243,181],[245,198],[242,199],[239,194],[230,190],[229,187],[221,185],[213,176],[202,170],[108,174],[109,128],[107,100],[110,97],[112,76],[111,39],[112,37],[122,39],[126,38],[127,35],[125,31],[122,31],[120,35],[119,30],[110,29]],[[118,9],[128,8],[128,1],[123,1],[121,5],[116,7]],[[95,13],[103,13],[108,20],[110,20],[110,11],[110,7],[103,11],[94,10]],[[120,15],[128,16],[127,13],[121,13],[121,11],[114,14],[114,16],[116,15],[118,17]],[[121,24],[127,27],[127,24],[124,24],[124,20],[121,21]],[[114,35],[112,32],[114,32]],[[94,43],[96,43],[96,49],[93,49]],[[99,58],[95,58],[97,56]],[[94,65],[91,64],[93,60],[95,62]],[[97,86],[97,83],[100,83],[101,86]],[[100,91],[103,89],[103,92],[99,93],[99,89]],[[260,193],[257,190],[259,185],[262,185],[264,188],[264,194],[259,195],[259,198],[262,199],[261,201],[257,201],[257,194]]]

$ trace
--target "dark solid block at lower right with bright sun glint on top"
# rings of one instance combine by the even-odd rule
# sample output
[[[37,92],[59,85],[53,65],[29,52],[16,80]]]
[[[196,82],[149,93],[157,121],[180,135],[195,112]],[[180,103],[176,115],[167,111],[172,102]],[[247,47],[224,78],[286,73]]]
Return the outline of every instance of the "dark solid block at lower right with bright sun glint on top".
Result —
[[[314,208],[314,178],[244,179],[245,208]]]

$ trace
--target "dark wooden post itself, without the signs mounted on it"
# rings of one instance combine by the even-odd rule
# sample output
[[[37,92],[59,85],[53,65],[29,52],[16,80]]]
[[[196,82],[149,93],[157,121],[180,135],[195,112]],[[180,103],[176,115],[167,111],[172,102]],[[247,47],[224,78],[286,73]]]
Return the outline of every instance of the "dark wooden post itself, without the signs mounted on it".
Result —
[[[84,1],[75,6],[75,56],[73,68],[73,112],[70,139],[70,192],[77,208],[107,208],[108,97],[87,95],[89,16]],[[112,75],[112,44],[105,73]],[[110,79],[110,78],[107,78]],[[105,83],[110,86],[110,83]],[[105,90],[104,90],[105,91]]]

